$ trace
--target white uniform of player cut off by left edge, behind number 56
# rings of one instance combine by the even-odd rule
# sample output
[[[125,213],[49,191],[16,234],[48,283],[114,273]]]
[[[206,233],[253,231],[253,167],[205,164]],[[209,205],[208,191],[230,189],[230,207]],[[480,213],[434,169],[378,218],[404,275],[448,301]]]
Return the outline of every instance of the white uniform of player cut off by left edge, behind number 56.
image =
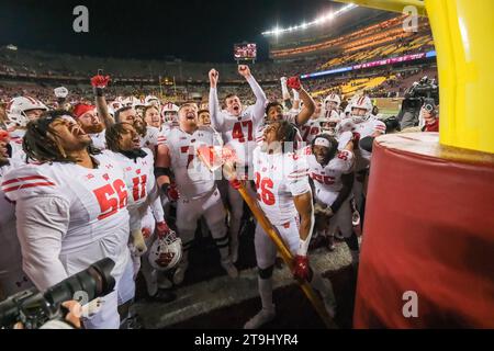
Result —
[[[0,183],[12,165],[0,167]],[[0,189],[0,295],[13,295],[33,284],[22,270],[21,246],[15,227],[15,204]]]

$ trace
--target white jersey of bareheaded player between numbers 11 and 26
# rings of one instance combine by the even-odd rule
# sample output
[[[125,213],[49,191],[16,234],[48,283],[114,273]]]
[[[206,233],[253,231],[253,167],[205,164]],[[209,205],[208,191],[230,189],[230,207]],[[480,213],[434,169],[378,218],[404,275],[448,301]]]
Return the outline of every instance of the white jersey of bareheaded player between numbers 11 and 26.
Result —
[[[214,173],[197,156],[201,146],[222,145],[220,135],[213,128],[201,126],[192,134],[172,128],[162,143],[170,150],[171,169],[180,196],[191,200],[213,191]]]

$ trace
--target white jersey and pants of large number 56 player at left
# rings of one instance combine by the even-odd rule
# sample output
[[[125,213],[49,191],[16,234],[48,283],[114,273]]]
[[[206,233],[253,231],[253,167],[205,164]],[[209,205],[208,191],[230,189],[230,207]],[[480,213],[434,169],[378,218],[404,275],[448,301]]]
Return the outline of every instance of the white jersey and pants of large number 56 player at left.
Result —
[[[44,291],[103,258],[115,261],[116,286],[130,260],[127,190],[123,170],[105,155],[99,166],[25,165],[8,172],[2,190],[14,201],[23,269]],[[86,321],[119,328],[116,291]]]

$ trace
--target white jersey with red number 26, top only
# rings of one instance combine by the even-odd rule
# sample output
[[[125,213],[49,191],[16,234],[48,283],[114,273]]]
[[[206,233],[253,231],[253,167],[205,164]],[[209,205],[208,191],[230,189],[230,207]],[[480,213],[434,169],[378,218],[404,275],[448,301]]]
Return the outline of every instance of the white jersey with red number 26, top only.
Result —
[[[311,191],[307,161],[302,152],[268,154],[254,150],[257,197],[273,225],[297,216],[293,197]]]

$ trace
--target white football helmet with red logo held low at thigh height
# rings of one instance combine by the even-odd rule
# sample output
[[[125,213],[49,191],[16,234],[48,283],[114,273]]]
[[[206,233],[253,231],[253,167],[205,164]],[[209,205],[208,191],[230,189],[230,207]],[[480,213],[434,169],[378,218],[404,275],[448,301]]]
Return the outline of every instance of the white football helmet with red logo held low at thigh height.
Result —
[[[161,258],[161,259],[160,259]],[[158,271],[168,271],[175,268],[182,258],[182,240],[173,230],[165,238],[157,238],[149,249],[149,264]]]

